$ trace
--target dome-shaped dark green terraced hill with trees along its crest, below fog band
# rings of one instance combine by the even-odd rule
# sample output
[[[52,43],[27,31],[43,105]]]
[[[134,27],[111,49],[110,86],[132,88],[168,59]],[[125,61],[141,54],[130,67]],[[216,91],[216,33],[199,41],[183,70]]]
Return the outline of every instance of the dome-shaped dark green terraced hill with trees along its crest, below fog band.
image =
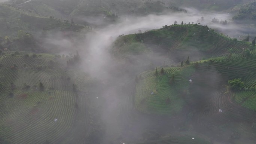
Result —
[[[112,52],[115,56],[124,58],[129,54],[164,50],[165,55],[184,61],[187,56],[198,60],[229,52],[239,53],[249,46],[247,42],[234,41],[206,26],[184,24],[119,37],[113,44]]]

